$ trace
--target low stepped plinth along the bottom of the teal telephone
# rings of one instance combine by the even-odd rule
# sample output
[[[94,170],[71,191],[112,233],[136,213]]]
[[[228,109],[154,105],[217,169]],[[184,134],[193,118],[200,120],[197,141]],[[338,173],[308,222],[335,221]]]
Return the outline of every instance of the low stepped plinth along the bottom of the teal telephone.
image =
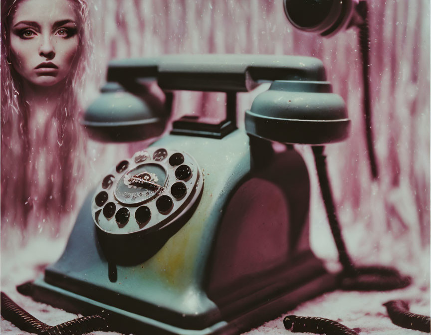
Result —
[[[77,295],[67,290],[47,284],[43,278],[36,279],[30,289],[32,298],[67,312],[94,315],[102,314],[109,323],[109,331],[123,334],[175,334],[175,335],[216,335],[216,334],[240,334],[257,327],[276,316],[287,313],[298,304],[316,297],[337,287],[337,276],[321,273],[300,286],[289,287],[278,295],[268,297],[263,304],[244,310],[241,315],[202,329],[183,329],[163,323],[138,314],[130,313],[92,299]]]

